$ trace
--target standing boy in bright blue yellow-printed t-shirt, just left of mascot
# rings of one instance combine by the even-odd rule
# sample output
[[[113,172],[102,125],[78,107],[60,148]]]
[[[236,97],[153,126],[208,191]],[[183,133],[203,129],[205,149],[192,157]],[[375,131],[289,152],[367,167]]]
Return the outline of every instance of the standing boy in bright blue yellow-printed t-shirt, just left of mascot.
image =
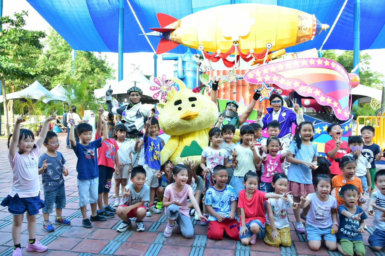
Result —
[[[161,213],[162,211],[154,205],[156,190],[159,186],[159,179],[156,174],[161,170],[161,150],[163,148],[161,140],[156,135],[159,129],[159,123],[154,116],[147,117],[146,127],[143,135],[144,148],[144,165],[146,170],[146,185],[150,187],[149,212],[146,216],[151,216],[151,213]]]

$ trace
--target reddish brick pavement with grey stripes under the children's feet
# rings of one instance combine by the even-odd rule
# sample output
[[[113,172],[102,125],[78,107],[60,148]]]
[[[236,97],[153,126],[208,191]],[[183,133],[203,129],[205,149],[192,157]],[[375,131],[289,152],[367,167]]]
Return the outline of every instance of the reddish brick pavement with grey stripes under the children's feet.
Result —
[[[116,231],[121,220],[115,216],[112,219],[107,219],[105,222],[93,222],[92,228],[86,229],[82,227],[81,213],[78,207],[78,193],[76,183],[76,156],[72,150],[65,148],[65,138],[67,134],[59,134],[59,140],[62,145],[59,151],[67,160],[66,167],[70,171],[65,177],[65,189],[67,196],[67,206],[63,209],[63,216],[71,220],[70,226],[57,226],[55,231],[47,233],[42,229],[43,218],[41,211],[37,218],[37,236],[42,244],[48,246],[48,250],[44,253],[27,252],[28,231],[27,220],[24,219],[22,225],[22,241],[23,255],[60,255],[60,256],[89,256],[89,255],[236,255],[236,256],[292,256],[292,255],[342,255],[338,252],[330,252],[324,246],[321,246],[318,252],[311,251],[306,238],[302,234],[295,232],[294,226],[290,223],[291,240],[293,244],[289,248],[271,247],[265,244],[262,240],[263,231],[258,234],[256,244],[251,246],[243,246],[239,241],[234,241],[225,238],[221,241],[215,241],[207,238],[207,226],[200,226],[199,223],[193,221],[195,235],[186,239],[174,229],[171,238],[163,236],[163,230],[166,226],[166,216],[162,214],[153,214],[152,217],[144,218],[146,231],[142,233],[136,232],[135,224],[130,230],[124,233]],[[45,151],[43,146],[42,152]],[[12,184],[12,169],[8,162],[7,141],[0,140],[0,201],[8,195],[10,185]],[[40,178],[41,180],[41,178]],[[110,193],[110,203],[113,203],[114,198]],[[368,196],[367,196],[368,198]],[[88,207],[89,209],[89,207]],[[364,208],[366,210],[366,206]],[[288,209],[290,221],[294,220],[293,210]],[[90,209],[88,215],[90,216]],[[369,216],[370,217],[370,216]],[[50,216],[50,220],[54,218]],[[367,255],[380,256],[385,255],[384,251],[373,252],[368,247],[369,234],[373,232],[373,218],[370,217],[365,221],[368,229],[364,237],[364,243],[367,245]],[[6,207],[0,206],[0,256],[10,255],[13,249],[11,236],[12,214],[8,213]]]

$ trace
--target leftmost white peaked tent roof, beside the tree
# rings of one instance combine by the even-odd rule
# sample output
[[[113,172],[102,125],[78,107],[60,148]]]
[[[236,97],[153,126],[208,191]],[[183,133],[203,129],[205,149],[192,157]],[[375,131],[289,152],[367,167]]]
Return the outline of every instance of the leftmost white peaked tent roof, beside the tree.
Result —
[[[45,89],[37,80],[34,81],[32,85],[28,86],[27,88],[24,88],[21,91],[8,93],[7,100],[27,98],[27,97],[29,99],[39,100],[40,98],[42,98],[42,96],[47,97],[45,100],[43,100],[44,102],[50,101],[50,100],[60,100],[57,95],[54,95],[49,90]],[[0,98],[0,102],[3,102],[2,97]]]

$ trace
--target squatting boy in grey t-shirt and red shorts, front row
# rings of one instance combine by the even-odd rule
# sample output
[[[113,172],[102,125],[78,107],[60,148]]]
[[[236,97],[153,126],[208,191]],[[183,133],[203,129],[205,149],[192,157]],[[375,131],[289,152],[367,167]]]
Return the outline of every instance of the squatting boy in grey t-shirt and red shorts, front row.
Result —
[[[116,229],[118,232],[124,232],[131,228],[132,223],[129,218],[136,218],[136,231],[143,232],[144,224],[142,219],[146,217],[146,206],[144,202],[150,199],[150,188],[145,185],[146,171],[143,167],[136,166],[132,168],[130,180],[132,183],[124,188],[125,202],[118,206],[116,214],[123,222]]]

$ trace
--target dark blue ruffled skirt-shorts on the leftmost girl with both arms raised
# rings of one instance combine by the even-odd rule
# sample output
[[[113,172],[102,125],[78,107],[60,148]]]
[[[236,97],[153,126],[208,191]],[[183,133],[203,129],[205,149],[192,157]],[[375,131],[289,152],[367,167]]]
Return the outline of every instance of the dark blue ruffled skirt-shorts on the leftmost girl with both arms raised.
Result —
[[[24,214],[28,211],[29,215],[36,215],[39,209],[45,207],[45,203],[40,199],[40,194],[33,197],[20,198],[18,194],[15,196],[8,195],[2,202],[1,206],[8,206],[8,211],[14,215]]]

